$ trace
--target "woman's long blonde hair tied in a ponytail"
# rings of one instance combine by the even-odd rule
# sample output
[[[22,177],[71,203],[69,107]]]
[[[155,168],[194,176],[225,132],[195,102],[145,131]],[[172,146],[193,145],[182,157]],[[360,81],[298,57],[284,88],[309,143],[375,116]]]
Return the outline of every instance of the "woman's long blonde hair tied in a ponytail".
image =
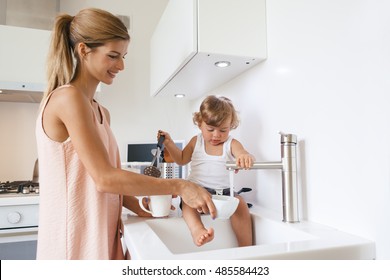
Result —
[[[47,57],[48,83],[42,102],[76,75],[79,56],[75,50],[79,43],[93,49],[114,40],[130,40],[130,36],[123,22],[107,11],[88,8],[76,16],[58,15]]]

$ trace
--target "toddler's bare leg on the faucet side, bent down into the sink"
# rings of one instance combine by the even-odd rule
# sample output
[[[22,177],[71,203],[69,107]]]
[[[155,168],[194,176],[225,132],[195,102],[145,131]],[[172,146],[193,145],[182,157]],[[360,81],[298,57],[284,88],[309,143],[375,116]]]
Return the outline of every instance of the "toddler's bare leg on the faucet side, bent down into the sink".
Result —
[[[249,213],[248,205],[241,196],[237,196],[240,200],[236,212],[230,218],[232,228],[236,234],[238,246],[253,245],[252,237],[252,219]]]

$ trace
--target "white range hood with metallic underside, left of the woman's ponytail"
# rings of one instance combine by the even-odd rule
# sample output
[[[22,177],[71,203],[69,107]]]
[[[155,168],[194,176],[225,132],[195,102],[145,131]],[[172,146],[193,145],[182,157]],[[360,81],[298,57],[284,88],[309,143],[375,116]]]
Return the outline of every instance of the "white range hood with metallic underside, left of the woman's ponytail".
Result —
[[[0,102],[41,101],[50,34],[48,30],[0,25]]]

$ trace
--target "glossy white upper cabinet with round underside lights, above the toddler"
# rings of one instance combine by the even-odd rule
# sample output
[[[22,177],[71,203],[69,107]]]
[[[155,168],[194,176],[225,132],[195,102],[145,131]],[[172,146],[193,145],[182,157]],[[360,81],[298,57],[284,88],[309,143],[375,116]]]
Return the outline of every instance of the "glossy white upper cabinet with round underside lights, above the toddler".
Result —
[[[265,0],[170,0],[151,39],[151,95],[196,98],[266,57]]]

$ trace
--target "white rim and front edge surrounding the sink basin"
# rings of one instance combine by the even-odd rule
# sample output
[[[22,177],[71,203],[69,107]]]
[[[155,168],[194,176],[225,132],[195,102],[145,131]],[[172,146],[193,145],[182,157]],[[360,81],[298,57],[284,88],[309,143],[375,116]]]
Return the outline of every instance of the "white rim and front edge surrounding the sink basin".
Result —
[[[261,213],[262,218],[306,232],[314,238],[279,244],[173,254],[145,222],[150,218],[131,216],[124,212],[122,216],[124,240],[126,246],[130,248],[132,259],[375,259],[375,243],[371,240],[309,221],[284,223],[277,214],[260,207],[253,207],[251,213],[253,215]]]

